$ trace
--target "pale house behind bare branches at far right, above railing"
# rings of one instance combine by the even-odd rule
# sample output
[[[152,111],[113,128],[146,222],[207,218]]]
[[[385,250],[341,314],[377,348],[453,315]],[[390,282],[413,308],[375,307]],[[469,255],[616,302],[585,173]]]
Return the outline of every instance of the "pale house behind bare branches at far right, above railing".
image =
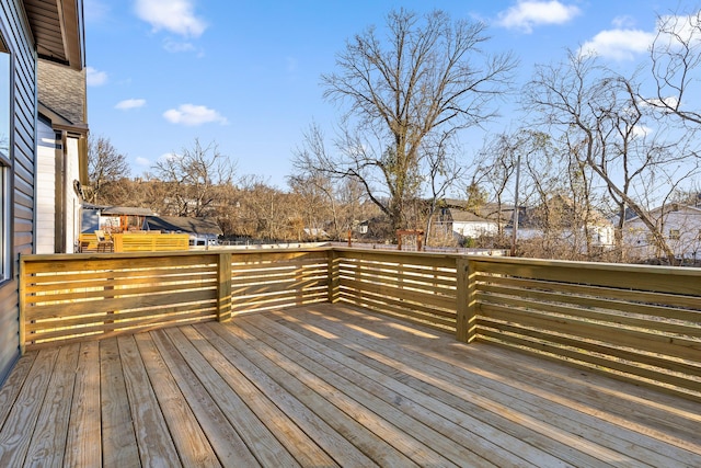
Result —
[[[677,259],[701,259],[701,207],[673,203],[651,212]],[[639,216],[625,221],[623,242],[631,256],[654,259],[662,252]]]

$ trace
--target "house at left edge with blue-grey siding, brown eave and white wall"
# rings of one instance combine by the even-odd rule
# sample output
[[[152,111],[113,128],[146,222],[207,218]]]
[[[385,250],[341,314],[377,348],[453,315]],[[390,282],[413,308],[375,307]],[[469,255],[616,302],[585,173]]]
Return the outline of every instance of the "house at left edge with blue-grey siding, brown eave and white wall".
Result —
[[[66,167],[56,170],[56,164],[74,162],[74,155],[80,158],[87,126],[84,119],[60,115],[44,102],[50,93],[45,94],[38,81],[48,65],[70,70],[76,82],[82,82],[82,0],[0,2],[0,381],[20,356],[20,255],[72,247],[67,232],[74,227],[68,215],[68,210],[74,213],[72,206],[60,207],[66,216],[57,216],[56,207],[73,199],[69,194],[79,196],[72,184],[82,178],[76,167],[68,168],[66,176],[57,176]],[[84,99],[82,91],[76,95]],[[38,156],[44,138],[46,148],[41,151],[54,158],[56,172],[39,180],[46,162]],[[50,187],[44,192],[48,180],[59,181],[53,194]],[[37,227],[50,218],[44,216],[50,213],[49,205],[55,210],[53,231],[39,232]]]

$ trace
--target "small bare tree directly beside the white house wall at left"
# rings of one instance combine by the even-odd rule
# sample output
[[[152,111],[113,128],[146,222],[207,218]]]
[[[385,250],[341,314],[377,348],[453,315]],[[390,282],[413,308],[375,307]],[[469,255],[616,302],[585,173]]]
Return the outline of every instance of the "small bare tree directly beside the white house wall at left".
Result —
[[[105,137],[90,136],[88,139],[88,178],[90,189],[87,190],[87,198],[90,203],[113,203],[112,199],[103,199],[110,185],[129,176],[127,158],[110,142]],[[114,187],[113,187],[114,189]]]

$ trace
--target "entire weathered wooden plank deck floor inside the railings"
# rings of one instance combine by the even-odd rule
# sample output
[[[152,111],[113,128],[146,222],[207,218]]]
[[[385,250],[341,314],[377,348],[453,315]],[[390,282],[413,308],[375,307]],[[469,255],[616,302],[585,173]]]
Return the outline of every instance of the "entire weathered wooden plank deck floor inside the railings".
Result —
[[[25,354],[0,466],[701,466],[701,403],[342,305]]]

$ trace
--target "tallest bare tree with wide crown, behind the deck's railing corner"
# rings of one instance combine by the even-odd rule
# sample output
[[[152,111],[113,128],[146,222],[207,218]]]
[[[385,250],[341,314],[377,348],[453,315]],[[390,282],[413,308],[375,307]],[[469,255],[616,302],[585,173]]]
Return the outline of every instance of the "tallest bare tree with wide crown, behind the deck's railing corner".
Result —
[[[337,71],[322,76],[324,96],[347,105],[337,155],[311,150],[302,165],[357,180],[392,229],[406,227],[406,205],[430,171],[436,146],[428,140],[448,141],[494,116],[492,100],[512,78],[512,56],[482,53],[484,31],[441,11],[420,18],[399,10],[388,15],[387,41],[375,27],[348,41]],[[312,149],[317,136],[307,136]]]

